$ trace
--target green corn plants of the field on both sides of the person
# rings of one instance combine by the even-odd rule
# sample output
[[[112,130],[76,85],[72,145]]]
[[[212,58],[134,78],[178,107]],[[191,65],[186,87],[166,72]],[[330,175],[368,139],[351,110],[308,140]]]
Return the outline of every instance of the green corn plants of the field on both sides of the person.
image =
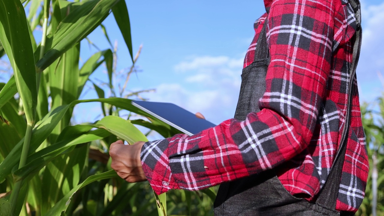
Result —
[[[93,30],[101,27],[109,41],[101,24],[108,16],[114,16],[125,42],[120,48],[132,60],[119,91],[111,42],[79,61],[80,42]],[[127,183],[110,168],[110,143],[147,140],[137,126],[164,137],[179,133],[131,105],[129,98],[140,92],[125,91],[140,53],[132,53],[126,2],[0,0],[0,42],[0,58],[12,73],[0,83],[0,216],[213,215],[217,188],[156,196],[147,182]],[[79,100],[99,67],[108,71],[104,84],[112,97],[92,83],[98,98]],[[99,120],[73,124],[74,106],[89,102],[101,106]],[[371,169],[356,215],[384,216],[384,97],[362,105],[362,115]]]

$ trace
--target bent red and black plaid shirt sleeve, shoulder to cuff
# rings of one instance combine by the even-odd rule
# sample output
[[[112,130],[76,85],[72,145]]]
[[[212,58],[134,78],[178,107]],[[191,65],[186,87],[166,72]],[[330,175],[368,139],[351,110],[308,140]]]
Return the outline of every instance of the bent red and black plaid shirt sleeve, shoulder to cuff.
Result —
[[[147,142],[141,160],[155,193],[199,190],[260,173],[308,147],[331,67],[332,2],[273,1],[266,20],[271,63],[261,111],[193,136]]]

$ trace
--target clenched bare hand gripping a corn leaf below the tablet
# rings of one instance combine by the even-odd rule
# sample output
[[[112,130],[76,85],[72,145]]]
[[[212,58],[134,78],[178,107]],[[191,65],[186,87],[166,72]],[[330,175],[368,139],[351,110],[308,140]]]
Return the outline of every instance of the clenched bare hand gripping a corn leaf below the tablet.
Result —
[[[118,140],[109,147],[111,168],[129,183],[147,180],[140,160],[141,147],[144,143],[139,141],[133,145],[124,145],[123,141]]]

